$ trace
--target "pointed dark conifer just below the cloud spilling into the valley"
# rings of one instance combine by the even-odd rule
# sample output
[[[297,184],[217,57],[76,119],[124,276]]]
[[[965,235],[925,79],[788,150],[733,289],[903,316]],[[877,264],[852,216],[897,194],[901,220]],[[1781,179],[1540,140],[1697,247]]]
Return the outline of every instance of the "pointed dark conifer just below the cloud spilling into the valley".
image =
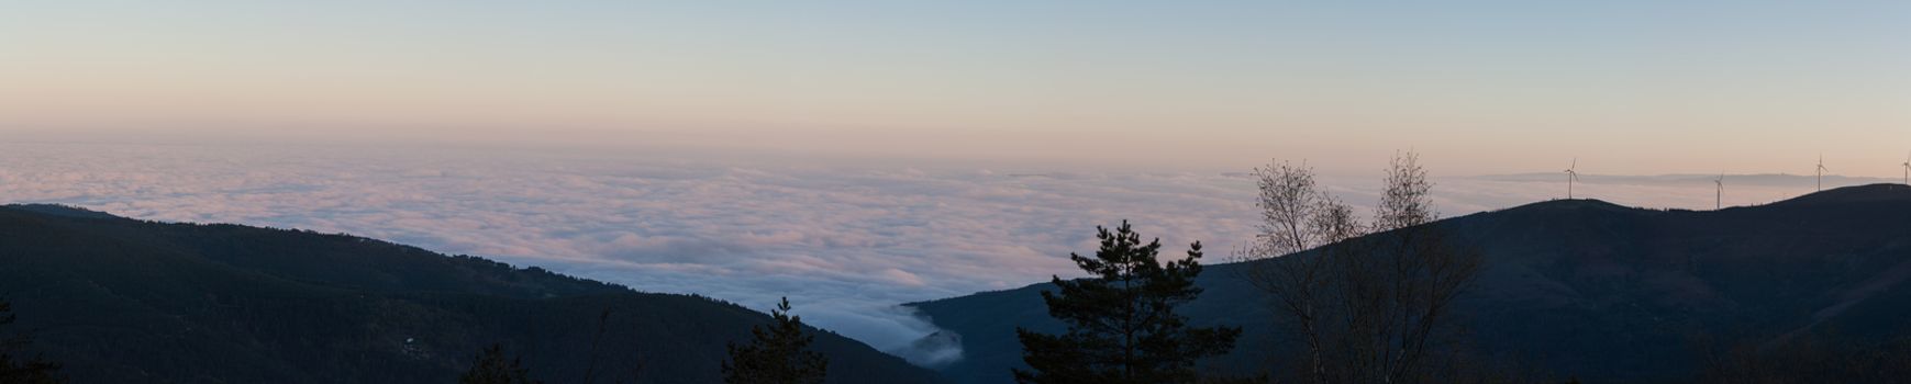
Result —
[[[803,317],[789,315],[789,298],[770,309],[774,323],[751,327],[749,346],[730,344],[730,361],[722,363],[728,384],[816,384],[824,382],[829,359],[810,352],[816,334],[803,332]]]

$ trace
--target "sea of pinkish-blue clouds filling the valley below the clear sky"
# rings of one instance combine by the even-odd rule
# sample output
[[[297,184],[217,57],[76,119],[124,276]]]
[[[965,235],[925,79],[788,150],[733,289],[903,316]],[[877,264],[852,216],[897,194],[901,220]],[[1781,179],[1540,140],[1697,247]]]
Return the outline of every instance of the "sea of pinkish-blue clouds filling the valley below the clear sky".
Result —
[[[1257,220],[1246,174],[1256,164],[1089,172],[688,159],[417,145],[0,143],[0,203],[352,233],[759,309],[789,296],[805,321],[919,365],[961,352],[912,350],[936,329],[896,304],[1080,275],[1066,256],[1093,252],[1095,225],[1122,220],[1160,237],[1171,254],[1202,241],[1208,262],[1225,262],[1252,239]],[[1577,195],[1710,208],[1712,178],[1586,176]],[[1771,203],[1814,185],[1810,176],[1745,178],[1743,187],[1728,185],[1726,204]],[[1380,187],[1378,170],[1322,180],[1355,206],[1370,206]],[[1554,174],[1435,181],[1447,216],[1565,193]],[[1827,180],[1869,181],[1880,180]]]

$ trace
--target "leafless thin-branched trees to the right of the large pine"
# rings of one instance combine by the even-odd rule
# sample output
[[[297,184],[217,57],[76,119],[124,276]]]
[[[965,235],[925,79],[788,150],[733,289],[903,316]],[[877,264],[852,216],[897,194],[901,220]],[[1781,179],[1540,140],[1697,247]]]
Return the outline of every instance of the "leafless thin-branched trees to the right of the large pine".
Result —
[[[1433,183],[1420,157],[1393,159],[1368,225],[1321,191],[1309,168],[1257,174],[1265,233],[1250,248],[1259,262],[1248,279],[1269,294],[1277,323],[1299,338],[1303,380],[1439,380],[1429,361],[1454,357],[1449,344],[1460,329],[1450,309],[1483,256],[1433,224]]]

